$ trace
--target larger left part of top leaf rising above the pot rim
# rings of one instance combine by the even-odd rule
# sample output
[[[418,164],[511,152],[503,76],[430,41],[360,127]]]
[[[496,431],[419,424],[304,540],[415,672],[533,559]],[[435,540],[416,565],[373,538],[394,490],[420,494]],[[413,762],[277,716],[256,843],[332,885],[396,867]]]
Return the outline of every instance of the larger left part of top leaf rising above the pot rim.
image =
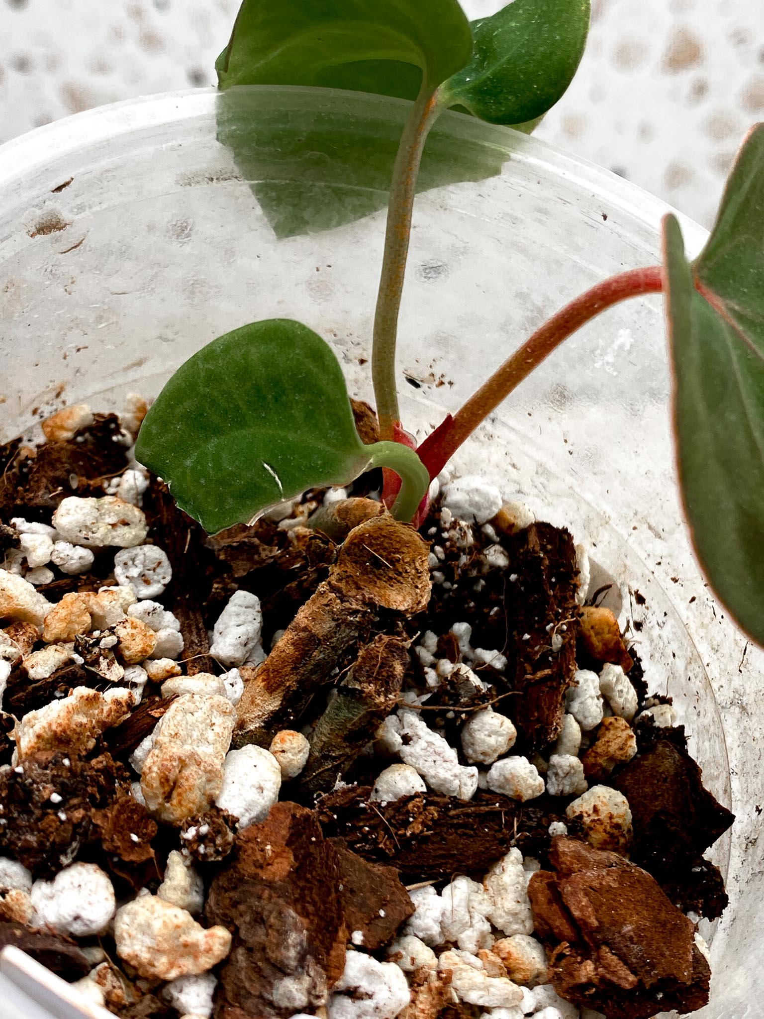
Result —
[[[215,67],[221,89],[312,85],[401,96],[422,73],[436,88],[471,53],[457,0],[243,0]]]

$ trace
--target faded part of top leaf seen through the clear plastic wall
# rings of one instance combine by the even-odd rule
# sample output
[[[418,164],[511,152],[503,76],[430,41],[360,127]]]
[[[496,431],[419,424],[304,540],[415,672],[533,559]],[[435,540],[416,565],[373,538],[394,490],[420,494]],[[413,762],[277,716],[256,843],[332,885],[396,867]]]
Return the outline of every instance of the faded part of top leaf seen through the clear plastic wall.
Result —
[[[407,114],[404,103],[311,89],[239,88],[217,97],[218,139],[280,237],[384,209]],[[418,191],[500,173],[508,152],[487,144],[483,130],[472,119],[438,120]]]

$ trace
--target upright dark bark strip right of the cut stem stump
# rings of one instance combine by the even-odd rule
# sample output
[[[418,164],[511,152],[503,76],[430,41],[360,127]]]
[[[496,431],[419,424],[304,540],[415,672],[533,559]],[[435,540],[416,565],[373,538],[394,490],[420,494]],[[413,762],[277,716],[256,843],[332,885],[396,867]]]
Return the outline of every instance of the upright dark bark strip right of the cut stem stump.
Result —
[[[570,534],[551,524],[532,524],[504,539],[509,555],[506,677],[522,696],[512,698],[517,748],[539,750],[560,732],[565,691],[576,674],[579,606],[576,548]],[[561,642],[553,651],[552,637]]]

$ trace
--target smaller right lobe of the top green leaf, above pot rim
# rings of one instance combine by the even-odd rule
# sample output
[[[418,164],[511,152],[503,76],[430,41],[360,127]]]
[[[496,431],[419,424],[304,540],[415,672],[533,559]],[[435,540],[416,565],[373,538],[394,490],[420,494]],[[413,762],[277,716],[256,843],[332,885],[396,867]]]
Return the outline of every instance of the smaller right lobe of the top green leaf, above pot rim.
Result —
[[[445,104],[497,124],[542,116],[572,81],[589,8],[589,0],[514,0],[473,21],[473,58],[442,87]]]

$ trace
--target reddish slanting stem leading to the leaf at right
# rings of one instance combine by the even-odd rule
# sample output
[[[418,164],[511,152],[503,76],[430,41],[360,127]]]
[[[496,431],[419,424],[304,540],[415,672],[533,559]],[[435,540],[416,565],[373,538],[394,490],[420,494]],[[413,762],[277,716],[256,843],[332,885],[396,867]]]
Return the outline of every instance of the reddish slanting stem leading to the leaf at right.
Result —
[[[612,305],[662,289],[660,266],[631,269],[597,283],[560,309],[494,372],[452,418],[447,418],[419,447],[434,478],[475,429],[534,369],[585,323]]]

